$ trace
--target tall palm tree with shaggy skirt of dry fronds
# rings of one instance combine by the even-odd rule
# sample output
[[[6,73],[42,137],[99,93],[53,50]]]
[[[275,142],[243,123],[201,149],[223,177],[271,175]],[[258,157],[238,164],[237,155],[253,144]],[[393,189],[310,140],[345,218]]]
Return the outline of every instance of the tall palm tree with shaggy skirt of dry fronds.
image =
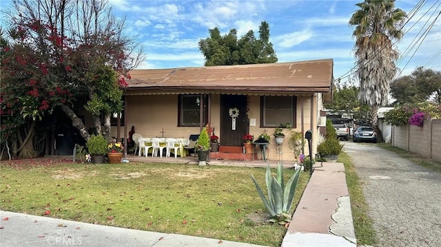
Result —
[[[371,123],[378,129],[377,109],[387,105],[389,85],[395,78],[399,57],[393,40],[402,38],[406,12],[394,9],[395,0],[365,0],[352,14],[349,24],[356,25],[352,36],[360,81],[358,98],[371,106]]]

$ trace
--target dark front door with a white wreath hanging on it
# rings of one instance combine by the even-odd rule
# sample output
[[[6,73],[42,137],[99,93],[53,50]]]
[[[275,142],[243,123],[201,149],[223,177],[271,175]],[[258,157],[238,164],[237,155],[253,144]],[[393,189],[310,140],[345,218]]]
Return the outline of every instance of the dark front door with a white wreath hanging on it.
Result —
[[[232,109],[232,111],[230,111]],[[234,112],[238,109],[238,112]],[[237,115],[235,120],[232,116]],[[220,96],[220,144],[223,146],[242,146],[243,135],[247,129],[247,96],[221,95]]]

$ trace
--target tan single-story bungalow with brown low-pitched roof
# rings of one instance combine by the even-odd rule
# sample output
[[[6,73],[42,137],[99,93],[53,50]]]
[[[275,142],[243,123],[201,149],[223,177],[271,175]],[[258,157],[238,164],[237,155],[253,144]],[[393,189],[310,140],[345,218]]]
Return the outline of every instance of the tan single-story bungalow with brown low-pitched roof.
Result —
[[[316,153],[325,126],[320,110],[332,100],[333,60],[139,69],[130,76],[120,125],[112,118],[112,136],[128,138],[134,126],[143,137],[189,138],[209,123],[219,136],[219,153],[242,153],[245,134],[266,132],[269,160],[293,160],[288,141],[277,147],[272,133],[280,124],[302,136],[311,130]],[[283,131],[289,137],[290,129]]]

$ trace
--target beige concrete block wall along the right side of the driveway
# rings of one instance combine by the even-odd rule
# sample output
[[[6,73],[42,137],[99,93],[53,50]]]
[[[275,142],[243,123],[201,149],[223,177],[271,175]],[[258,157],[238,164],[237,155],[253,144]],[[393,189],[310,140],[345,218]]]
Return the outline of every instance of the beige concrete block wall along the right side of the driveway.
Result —
[[[425,120],[423,127],[394,126],[392,144],[441,161],[441,119]]]

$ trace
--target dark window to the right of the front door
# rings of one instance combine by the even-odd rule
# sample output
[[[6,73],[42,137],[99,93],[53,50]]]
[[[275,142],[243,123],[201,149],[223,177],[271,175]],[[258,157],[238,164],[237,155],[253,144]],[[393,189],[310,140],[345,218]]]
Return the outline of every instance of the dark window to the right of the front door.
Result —
[[[296,101],[295,96],[262,96],[261,127],[278,127],[281,124],[296,127]]]

